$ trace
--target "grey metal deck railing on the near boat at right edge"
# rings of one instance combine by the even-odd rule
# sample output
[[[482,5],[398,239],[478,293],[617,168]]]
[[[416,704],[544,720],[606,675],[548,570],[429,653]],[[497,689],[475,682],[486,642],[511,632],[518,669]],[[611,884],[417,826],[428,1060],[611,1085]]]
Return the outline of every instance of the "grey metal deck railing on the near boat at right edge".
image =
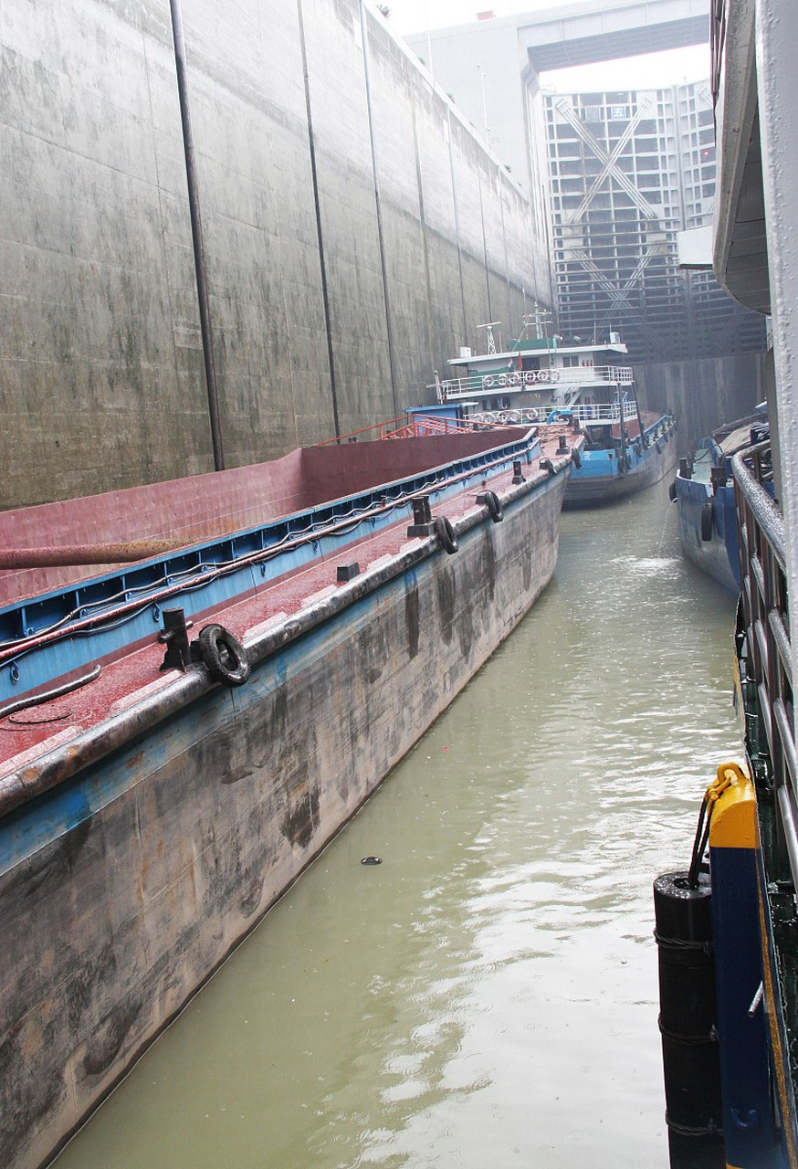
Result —
[[[741,677],[741,685],[756,687],[766,740],[761,746],[770,756],[776,848],[780,866],[791,873],[793,887],[798,888],[798,758],[784,518],[763,486],[769,456],[770,443],[764,442],[731,459],[747,643],[747,677]]]

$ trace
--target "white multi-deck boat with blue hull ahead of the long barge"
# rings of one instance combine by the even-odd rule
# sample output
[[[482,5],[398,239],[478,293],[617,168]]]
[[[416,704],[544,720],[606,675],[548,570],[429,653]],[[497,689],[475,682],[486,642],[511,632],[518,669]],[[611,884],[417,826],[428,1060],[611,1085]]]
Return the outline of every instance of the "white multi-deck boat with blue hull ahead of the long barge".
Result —
[[[640,409],[619,334],[592,345],[581,338],[564,343],[542,336],[536,319],[536,336],[522,334],[507,350],[497,348],[499,321],[479,326],[487,331],[487,352],[463,348],[449,361],[457,376],[436,376],[428,387],[438,406],[485,424],[573,421],[584,433],[584,449],[568,482],[565,507],[623,499],[669,475],[676,420]]]

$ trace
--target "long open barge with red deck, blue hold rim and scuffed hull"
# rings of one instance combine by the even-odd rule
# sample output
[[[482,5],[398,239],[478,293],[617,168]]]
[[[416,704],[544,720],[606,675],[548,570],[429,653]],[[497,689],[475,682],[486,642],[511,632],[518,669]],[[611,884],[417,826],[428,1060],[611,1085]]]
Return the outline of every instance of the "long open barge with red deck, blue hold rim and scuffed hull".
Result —
[[[51,1158],[540,595],[549,429],[0,516],[5,1167]],[[182,547],[54,566],[144,540]]]

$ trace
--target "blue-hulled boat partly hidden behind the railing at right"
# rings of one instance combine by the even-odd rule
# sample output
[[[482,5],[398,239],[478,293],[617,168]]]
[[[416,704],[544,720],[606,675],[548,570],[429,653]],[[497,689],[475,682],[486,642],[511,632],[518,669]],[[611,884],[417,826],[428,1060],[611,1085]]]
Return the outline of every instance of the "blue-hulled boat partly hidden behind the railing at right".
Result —
[[[764,407],[720,427],[679,461],[671,487],[683,555],[735,595],[740,593],[740,544],[731,459],[766,435]],[[765,471],[763,482],[772,491],[772,473]]]

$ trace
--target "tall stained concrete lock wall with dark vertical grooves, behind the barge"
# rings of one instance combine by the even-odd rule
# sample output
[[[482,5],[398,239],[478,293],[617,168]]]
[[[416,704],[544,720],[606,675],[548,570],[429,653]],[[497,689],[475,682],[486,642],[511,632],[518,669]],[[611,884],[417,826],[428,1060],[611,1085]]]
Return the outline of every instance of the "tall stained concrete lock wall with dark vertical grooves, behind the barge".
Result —
[[[375,9],[181,14],[228,466],[550,303],[526,199]],[[0,506],[213,470],[168,0],[8,0],[0,53]]]

